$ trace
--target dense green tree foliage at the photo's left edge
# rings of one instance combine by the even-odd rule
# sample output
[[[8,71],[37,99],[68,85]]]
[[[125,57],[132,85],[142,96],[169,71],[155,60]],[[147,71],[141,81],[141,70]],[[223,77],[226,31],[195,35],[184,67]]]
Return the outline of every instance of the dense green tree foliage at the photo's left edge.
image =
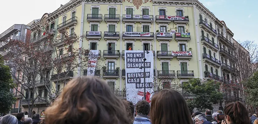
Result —
[[[14,88],[15,84],[13,83],[9,66],[3,63],[0,55],[0,113],[8,113],[16,100],[10,91],[10,89]]]

